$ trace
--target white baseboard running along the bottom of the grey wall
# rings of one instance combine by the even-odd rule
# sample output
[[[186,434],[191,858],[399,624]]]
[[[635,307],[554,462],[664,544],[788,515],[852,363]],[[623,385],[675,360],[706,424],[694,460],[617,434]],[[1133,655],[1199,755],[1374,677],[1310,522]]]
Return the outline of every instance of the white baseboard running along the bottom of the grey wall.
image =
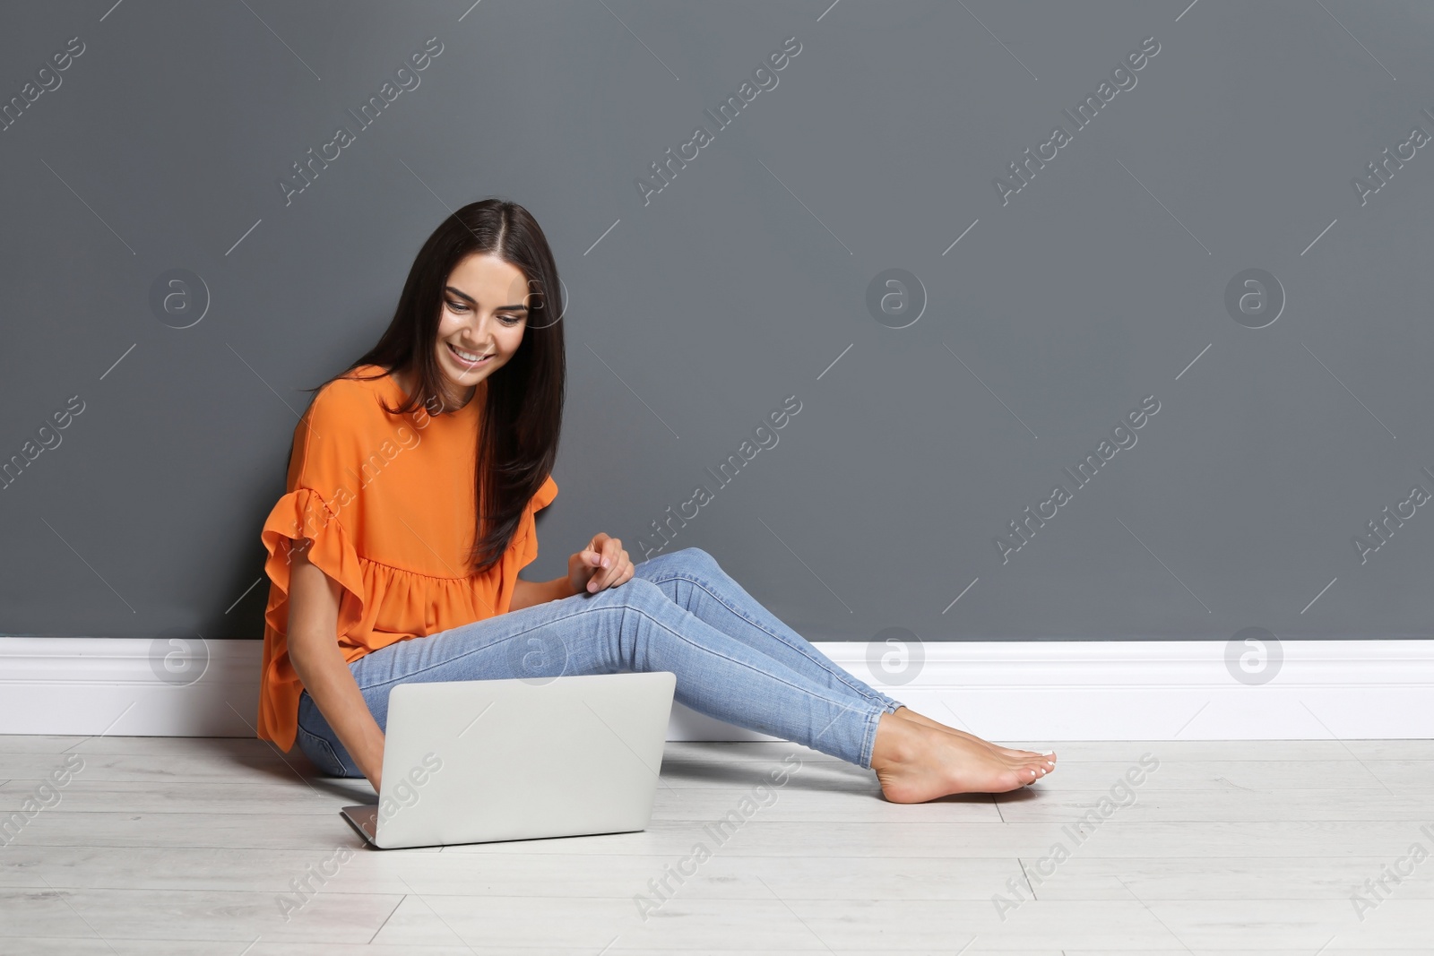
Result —
[[[0,638],[0,734],[252,737],[261,642],[211,641],[202,677],[156,677],[153,642]],[[873,677],[865,642],[815,645],[913,711],[988,740],[1434,737],[1434,641],[1288,641],[1266,684],[1223,642],[925,644],[916,677]],[[675,704],[668,740],[774,740]]]

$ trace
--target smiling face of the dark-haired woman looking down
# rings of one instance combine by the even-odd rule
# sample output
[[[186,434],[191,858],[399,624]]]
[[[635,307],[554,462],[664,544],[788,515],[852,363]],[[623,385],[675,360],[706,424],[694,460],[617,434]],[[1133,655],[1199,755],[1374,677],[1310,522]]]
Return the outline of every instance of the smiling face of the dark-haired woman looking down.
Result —
[[[492,254],[460,261],[443,290],[437,364],[445,390],[462,407],[478,386],[508,364],[528,327],[528,279],[522,269]]]

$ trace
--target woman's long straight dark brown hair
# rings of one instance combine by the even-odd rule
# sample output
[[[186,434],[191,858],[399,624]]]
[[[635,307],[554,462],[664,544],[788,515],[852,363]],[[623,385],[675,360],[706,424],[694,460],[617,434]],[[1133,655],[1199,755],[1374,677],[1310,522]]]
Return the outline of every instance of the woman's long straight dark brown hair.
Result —
[[[479,384],[486,387],[478,431],[475,467],[473,573],[492,568],[508,550],[523,507],[552,473],[562,430],[566,360],[562,340],[562,284],[552,249],[538,221],[516,202],[483,199],[452,214],[423,244],[403,284],[393,321],[379,343],[348,368],[307,391],[348,376],[360,365],[412,371],[417,383],[409,401],[389,414],[442,407],[442,380],[435,355],[445,285],[460,261],[492,254],[516,267],[528,279],[528,324],[518,351]],[[383,376],[353,376],[381,378]],[[492,507],[485,513],[485,503]]]

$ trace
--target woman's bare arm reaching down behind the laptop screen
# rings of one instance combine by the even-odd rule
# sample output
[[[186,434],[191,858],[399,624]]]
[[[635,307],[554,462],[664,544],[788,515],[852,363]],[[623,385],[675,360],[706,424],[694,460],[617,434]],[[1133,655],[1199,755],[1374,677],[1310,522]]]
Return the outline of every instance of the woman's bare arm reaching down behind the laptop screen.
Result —
[[[338,649],[338,582],[290,549],[288,659],[358,770],[379,793],[383,731],[369,712],[358,682]]]

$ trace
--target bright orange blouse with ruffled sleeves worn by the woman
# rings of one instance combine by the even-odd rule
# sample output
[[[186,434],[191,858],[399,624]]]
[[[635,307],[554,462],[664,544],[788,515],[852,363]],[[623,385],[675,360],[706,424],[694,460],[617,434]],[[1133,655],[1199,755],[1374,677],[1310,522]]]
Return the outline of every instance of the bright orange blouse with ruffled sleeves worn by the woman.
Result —
[[[473,479],[486,386],[457,411],[391,416],[407,394],[393,376],[360,365],[324,386],[294,429],[288,493],[260,533],[268,558],[258,735],[294,745],[304,689],[288,659],[290,542],[341,586],[338,646],[350,664],[397,641],[506,613],[518,572],[538,556],[533,515],[558,496],[549,474],[523,509],[502,559],[469,573]]]

